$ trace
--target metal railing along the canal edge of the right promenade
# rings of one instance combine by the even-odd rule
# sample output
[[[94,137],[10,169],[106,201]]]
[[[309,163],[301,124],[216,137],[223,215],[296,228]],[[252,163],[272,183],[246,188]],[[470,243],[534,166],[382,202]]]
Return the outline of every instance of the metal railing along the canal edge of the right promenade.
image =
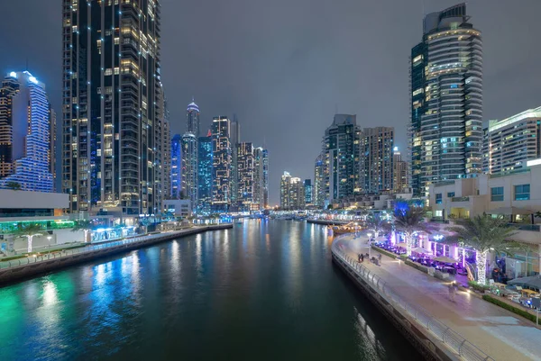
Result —
[[[454,351],[457,355],[463,358],[464,361],[494,361],[491,356],[482,352],[478,347],[475,347],[467,339],[460,336],[450,327],[445,326],[445,323],[436,317],[430,315],[428,311],[419,305],[412,305],[406,302],[403,298],[395,293],[379,275],[374,274],[365,266],[362,266],[358,260],[349,257],[343,249],[340,248],[341,240],[347,235],[341,236],[333,242],[332,252],[335,257],[340,258],[358,275],[364,282],[370,284],[372,288],[378,291],[381,297],[389,302],[395,310],[404,311],[411,319],[417,321],[417,324],[430,331],[430,333],[438,340],[443,342],[447,347]]]

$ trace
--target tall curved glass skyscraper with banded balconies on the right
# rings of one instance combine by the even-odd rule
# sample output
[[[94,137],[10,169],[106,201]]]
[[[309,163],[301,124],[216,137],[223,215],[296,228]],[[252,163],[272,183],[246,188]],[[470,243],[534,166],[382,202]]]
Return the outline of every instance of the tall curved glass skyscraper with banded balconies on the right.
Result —
[[[466,5],[428,14],[411,50],[410,142],[414,194],[481,172],[482,42]]]

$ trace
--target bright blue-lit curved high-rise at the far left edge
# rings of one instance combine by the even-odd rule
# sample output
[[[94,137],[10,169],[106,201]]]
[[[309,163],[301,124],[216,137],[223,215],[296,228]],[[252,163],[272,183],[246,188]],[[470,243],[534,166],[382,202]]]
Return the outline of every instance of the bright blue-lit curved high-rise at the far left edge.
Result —
[[[28,71],[9,73],[0,88],[0,188],[54,191],[54,133],[45,85]]]

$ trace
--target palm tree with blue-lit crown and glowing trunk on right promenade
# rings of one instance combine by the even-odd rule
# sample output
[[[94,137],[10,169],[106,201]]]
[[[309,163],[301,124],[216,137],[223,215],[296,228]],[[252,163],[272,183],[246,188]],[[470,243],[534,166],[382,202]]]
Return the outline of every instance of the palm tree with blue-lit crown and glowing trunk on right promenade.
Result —
[[[393,211],[394,226],[406,239],[406,253],[411,256],[413,235],[416,232],[431,233],[431,225],[424,221],[426,211],[422,204],[398,201]]]

